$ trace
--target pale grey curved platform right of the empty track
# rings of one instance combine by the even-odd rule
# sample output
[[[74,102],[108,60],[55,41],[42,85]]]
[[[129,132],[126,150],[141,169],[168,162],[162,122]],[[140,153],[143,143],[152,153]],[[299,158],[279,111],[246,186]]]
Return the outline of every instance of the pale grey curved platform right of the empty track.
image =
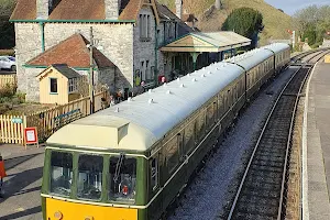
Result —
[[[330,219],[330,64],[321,59],[306,88],[302,129],[302,219]]]

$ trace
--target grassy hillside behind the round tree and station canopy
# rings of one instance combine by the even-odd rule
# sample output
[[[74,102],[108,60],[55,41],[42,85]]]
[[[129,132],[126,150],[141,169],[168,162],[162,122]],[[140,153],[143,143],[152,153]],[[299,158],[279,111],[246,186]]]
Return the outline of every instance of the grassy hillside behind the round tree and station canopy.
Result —
[[[175,0],[158,0],[175,11]],[[270,40],[288,40],[288,29],[292,29],[292,18],[280,10],[270,6],[264,0],[222,0],[223,8],[211,8],[215,0],[184,0],[184,9],[195,13],[199,19],[198,28],[201,31],[219,31],[222,23],[234,9],[249,7],[263,14],[265,29],[260,35],[261,45],[268,44]]]

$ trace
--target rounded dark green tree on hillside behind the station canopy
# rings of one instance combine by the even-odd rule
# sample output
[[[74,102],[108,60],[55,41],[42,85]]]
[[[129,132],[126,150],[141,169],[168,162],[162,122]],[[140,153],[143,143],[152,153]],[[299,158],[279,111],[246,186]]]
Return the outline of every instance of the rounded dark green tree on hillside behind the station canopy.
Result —
[[[256,47],[257,34],[264,29],[263,15],[251,8],[239,8],[233,10],[224,23],[222,31],[234,31],[252,40],[251,47]]]

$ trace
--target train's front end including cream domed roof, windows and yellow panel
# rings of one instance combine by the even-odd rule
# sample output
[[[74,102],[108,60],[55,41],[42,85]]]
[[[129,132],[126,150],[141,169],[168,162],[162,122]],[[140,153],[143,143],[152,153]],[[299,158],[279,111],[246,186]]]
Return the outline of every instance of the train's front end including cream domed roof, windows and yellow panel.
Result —
[[[44,220],[147,218],[148,165],[139,153],[148,152],[147,136],[138,125],[105,113],[73,122],[47,140]]]

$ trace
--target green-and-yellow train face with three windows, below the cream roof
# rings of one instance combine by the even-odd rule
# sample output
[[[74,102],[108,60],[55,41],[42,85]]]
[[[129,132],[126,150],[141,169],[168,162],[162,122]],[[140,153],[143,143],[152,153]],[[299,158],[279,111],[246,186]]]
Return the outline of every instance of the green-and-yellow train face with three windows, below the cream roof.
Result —
[[[144,204],[138,189],[135,156],[110,155],[86,150],[47,147],[42,189],[44,219],[133,220],[138,204]],[[141,169],[143,170],[143,168]],[[143,212],[143,207],[140,207]],[[141,216],[141,217],[142,217]]]

